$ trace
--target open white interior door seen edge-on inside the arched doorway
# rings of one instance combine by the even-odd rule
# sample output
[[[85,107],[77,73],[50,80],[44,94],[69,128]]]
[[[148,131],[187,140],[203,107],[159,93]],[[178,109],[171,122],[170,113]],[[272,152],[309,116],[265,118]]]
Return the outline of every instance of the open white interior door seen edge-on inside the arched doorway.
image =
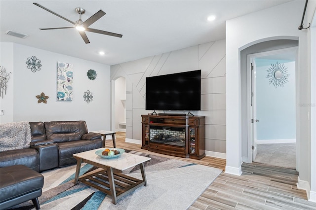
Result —
[[[251,63],[251,109],[252,109],[252,161],[255,160],[257,155],[257,97],[256,97],[256,64],[254,59]]]

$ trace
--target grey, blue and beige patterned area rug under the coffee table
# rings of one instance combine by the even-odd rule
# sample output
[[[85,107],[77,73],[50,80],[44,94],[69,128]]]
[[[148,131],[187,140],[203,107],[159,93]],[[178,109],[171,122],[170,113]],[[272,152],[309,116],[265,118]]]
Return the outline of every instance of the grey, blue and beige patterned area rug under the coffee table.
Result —
[[[133,154],[152,159],[145,163],[148,186],[112,203],[112,198],[83,183],[74,185],[76,166],[58,168],[43,172],[44,187],[39,198],[41,210],[185,210],[220,175],[222,170],[192,164],[136,151]],[[82,164],[80,175],[96,169]],[[125,174],[141,179],[139,167]],[[32,201],[13,207],[15,210],[35,209]]]

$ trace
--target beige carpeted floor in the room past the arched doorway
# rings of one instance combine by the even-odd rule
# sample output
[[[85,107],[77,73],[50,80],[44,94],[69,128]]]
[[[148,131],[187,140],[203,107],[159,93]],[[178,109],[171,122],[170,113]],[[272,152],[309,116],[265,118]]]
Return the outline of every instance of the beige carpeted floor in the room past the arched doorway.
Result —
[[[296,169],[296,143],[257,144],[254,162]]]

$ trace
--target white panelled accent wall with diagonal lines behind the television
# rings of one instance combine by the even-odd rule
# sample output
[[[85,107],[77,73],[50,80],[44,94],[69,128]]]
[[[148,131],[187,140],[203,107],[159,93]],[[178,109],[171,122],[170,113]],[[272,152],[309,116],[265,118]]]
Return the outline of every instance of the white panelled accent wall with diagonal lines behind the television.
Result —
[[[146,77],[191,70],[202,74],[201,110],[191,112],[206,116],[205,149],[226,153],[225,39],[111,66],[112,80],[126,78],[126,138],[141,140],[140,115],[152,112],[145,110]]]

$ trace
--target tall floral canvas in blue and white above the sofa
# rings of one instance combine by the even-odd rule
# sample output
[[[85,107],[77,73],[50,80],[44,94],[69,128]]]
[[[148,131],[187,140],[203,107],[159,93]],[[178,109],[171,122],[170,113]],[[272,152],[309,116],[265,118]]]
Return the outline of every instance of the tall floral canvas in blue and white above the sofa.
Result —
[[[73,101],[73,65],[57,62],[57,101]]]

